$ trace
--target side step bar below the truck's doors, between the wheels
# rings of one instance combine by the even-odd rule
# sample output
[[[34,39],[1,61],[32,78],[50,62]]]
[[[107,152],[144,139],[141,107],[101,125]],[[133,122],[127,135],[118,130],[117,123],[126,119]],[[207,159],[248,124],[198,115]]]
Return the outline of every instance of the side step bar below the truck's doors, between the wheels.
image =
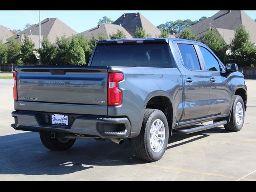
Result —
[[[174,129],[174,130],[172,130],[172,134],[177,134],[177,135],[190,134],[190,133],[194,133],[194,132],[203,131],[203,130],[206,130],[206,129],[211,129],[211,128],[214,128],[214,127],[218,127],[218,126],[224,125],[226,123],[227,123],[227,121],[223,120],[223,121],[219,121],[219,122],[216,122],[216,123],[213,123],[213,124],[209,124],[209,125],[205,125],[205,126],[199,126],[199,127],[196,127],[196,128]]]

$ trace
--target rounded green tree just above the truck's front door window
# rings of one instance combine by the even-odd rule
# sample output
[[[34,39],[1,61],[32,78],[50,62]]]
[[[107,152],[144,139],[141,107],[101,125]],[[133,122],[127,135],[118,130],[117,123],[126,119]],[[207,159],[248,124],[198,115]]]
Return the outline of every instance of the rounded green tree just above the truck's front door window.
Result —
[[[206,44],[217,56],[225,63],[227,44],[223,38],[214,30],[204,33],[200,39],[202,43]]]

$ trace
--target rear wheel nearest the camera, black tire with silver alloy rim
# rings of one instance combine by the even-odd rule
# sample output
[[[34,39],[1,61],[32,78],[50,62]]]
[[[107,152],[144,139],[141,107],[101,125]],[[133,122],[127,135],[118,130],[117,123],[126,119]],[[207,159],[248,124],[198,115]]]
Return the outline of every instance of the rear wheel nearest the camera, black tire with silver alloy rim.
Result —
[[[164,113],[146,109],[140,134],[132,138],[132,150],[141,160],[157,161],[164,155],[168,137],[169,127]]]

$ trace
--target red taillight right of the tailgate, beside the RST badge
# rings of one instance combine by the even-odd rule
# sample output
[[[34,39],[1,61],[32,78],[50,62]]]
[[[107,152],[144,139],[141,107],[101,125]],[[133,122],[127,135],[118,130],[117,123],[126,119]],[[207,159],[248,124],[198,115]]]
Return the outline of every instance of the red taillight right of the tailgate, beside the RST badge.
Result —
[[[108,106],[122,104],[122,91],[118,88],[118,82],[124,80],[122,73],[108,74]]]

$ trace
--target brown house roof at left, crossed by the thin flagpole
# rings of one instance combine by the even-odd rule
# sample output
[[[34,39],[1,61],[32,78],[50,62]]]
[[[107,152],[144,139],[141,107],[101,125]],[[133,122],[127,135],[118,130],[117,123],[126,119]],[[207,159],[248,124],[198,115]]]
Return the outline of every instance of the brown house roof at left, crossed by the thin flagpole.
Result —
[[[30,30],[32,35],[39,36],[39,23],[27,28],[18,34],[30,35]],[[67,37],[77,34],[72,28],[64,24],[58,18],[47,18],[41,21],[41,36],[48,37],[51,43],[55,42],[57,36],[61,37],[66,34]]]

